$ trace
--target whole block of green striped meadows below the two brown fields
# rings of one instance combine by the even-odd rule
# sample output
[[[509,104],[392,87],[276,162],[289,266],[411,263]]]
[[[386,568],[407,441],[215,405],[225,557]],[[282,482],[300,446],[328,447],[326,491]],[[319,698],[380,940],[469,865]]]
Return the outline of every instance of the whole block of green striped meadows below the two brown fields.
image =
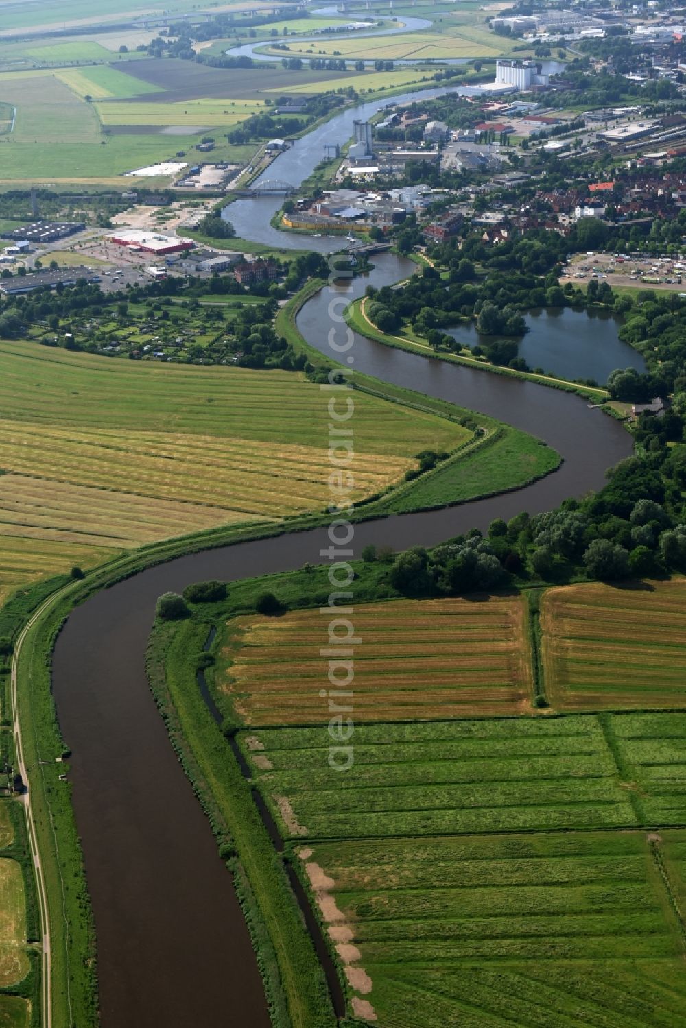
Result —
[[[378,1028],[686,1025],[686,714],[356,725],[239,744]]]

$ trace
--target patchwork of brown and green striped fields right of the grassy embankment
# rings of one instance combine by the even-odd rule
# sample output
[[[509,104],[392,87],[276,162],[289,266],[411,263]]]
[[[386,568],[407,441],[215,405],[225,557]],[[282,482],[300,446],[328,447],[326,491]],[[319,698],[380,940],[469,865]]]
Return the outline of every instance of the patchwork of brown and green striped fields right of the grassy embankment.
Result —
[[[685,705],[685,590],[544,593],[545,708],[523,597],[356,607],[348,694],[330,612],[228,622],[217,702],[350,1012],[686,1028],[686,711],[649,709]]]

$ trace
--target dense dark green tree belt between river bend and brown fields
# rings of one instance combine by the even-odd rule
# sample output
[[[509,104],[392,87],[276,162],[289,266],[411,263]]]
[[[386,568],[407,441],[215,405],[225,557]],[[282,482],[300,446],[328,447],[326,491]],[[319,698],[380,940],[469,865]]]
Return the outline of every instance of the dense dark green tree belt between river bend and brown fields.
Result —
[[[683,421],[676,420],[683,434]],[[563,582],[581,573],[602,581],[683,573],[686,450],[675,454],[663,442],[621,462],[605,488],[587,500],[566,500],[534,517],[499,518],[485,537],[472,529],[433,550],[400,553],[390,568],[391,584],[405,595],[452,595],[532,579]],[[364,556],[377,558],[370,550]]]

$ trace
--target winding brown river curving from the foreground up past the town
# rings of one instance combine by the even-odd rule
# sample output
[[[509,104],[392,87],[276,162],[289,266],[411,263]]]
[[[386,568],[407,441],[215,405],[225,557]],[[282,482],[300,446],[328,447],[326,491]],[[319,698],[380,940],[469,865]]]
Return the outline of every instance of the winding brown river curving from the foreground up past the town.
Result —
[[[368,113],[347,112],[337,130],[331,122],[300,141],[299,151],[294,147],[278,158],[278,177],[299,182],[321,157],[323,140],[333,131],[347,139],[360,116]],[[270,177],[275,171],[273,166]],[[240,233],[270,241],[270,201],[240,203]],[[291,244],[287,235],[278,240]],[[332,242],[339,245],[313,241]],[[301,243],[295,237],[293,245]],[[388,254],[374,260],[370,278],[356,281],[351,296],[367,281],[392,283],[411,267]],[[329,299],[328,291],[314,297],[298,318],[305,337],[323,351]],[[565,457],[558,472],[518,492],[360,524],[358,553],[367,543],[431,545],[472,525],[485,527],[495,517],[546,510],[602,486],[605,470],[630,451],[621,427],[576,396],[361,337],[353,353],[358,370],[493,414],[545,439]],[[160,593],[205,579],[299,567],[318,561],[326,545],[326,533],[316,529],[171,560],[92,597],[70,615],[58,638],[52,688],[73,752],[69,777],[96,922],[102,1028],[268,1024],[230,878],[150,695],[145,649]]]

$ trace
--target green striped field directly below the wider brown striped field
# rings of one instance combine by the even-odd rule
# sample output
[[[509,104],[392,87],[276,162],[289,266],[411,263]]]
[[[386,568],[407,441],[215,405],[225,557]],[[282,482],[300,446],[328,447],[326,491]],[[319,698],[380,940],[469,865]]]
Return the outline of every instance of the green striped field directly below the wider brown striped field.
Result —
[[[357,721],[352,702],[353,713],[338,717]],[[318,728],[255,728],[241,737],[246,752],[259,757],[257,780],[285,838],[639,823],[595,718],[356,724],[354,765],[342,774],[328,764],[331,739],[321,726],[331,715],[325,700],[321,706]]]

